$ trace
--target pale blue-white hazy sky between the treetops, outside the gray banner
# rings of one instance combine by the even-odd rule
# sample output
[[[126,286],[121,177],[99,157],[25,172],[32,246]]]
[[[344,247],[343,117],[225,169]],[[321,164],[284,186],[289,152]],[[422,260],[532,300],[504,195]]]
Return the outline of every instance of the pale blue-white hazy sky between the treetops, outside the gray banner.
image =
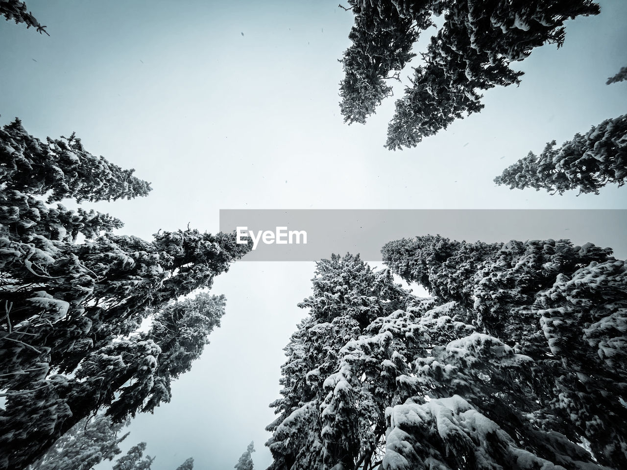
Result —
[[[143,238],[188,222],[217,231],[219,209],[625,209],[626,187],[560,197],[492,182],[529,150],[627,112],[627,82],[605,85],[627,65],[627,2],[599,3],[599,16],[567,23],[560,50],[515,65],[520,86],[485,92],[481,113],[389,152],[393,100],[365,126],[342,123],[337,59],[353,17],[337,0],[28,0],[50,37],[0,23],[0,124],[17,116],[40,138],[75,131],[89,152],[134,167],[149,197],[92,206]],[[265,468],[267,405],[312,274],[312,263],[241,261],[220,276],[222,327],[171,404],[134,421],[125,449],[147,441],[154,470],[187,456],[229,469],[254,439]]]

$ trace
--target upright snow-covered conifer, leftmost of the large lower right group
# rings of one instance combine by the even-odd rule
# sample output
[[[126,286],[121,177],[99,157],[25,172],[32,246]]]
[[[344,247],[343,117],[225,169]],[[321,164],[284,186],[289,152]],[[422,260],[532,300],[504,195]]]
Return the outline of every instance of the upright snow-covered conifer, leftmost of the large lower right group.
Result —
[[[374,405],[358,407],[353,400],[356,394],[381,399],[378,384],[369,382],[350,397],[334,399],[327,377],[339,367],[346,343],[377,317],[404,308],[409,293],[388,270],[373,271],[352,255],[317,263],[312,282],[313,295],[299,304],[310,316],[285,348],[282,398],[271,404],[278,417],[266,428],[273,432],[266,442],[273,470],[354,467],[362,454],[379,446],[384,433],[384,407],[377,413]]]

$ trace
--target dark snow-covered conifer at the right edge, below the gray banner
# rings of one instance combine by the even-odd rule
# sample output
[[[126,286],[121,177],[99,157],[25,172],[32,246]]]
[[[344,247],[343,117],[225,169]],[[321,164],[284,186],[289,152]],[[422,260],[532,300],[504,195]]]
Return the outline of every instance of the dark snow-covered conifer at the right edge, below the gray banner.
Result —
[[[627,264],[608,259],[559,274],[535,306],[563,370],[551,409],[584,436],[599,462],[627,465]],[[616,405],[619,402],[620,405]]]

